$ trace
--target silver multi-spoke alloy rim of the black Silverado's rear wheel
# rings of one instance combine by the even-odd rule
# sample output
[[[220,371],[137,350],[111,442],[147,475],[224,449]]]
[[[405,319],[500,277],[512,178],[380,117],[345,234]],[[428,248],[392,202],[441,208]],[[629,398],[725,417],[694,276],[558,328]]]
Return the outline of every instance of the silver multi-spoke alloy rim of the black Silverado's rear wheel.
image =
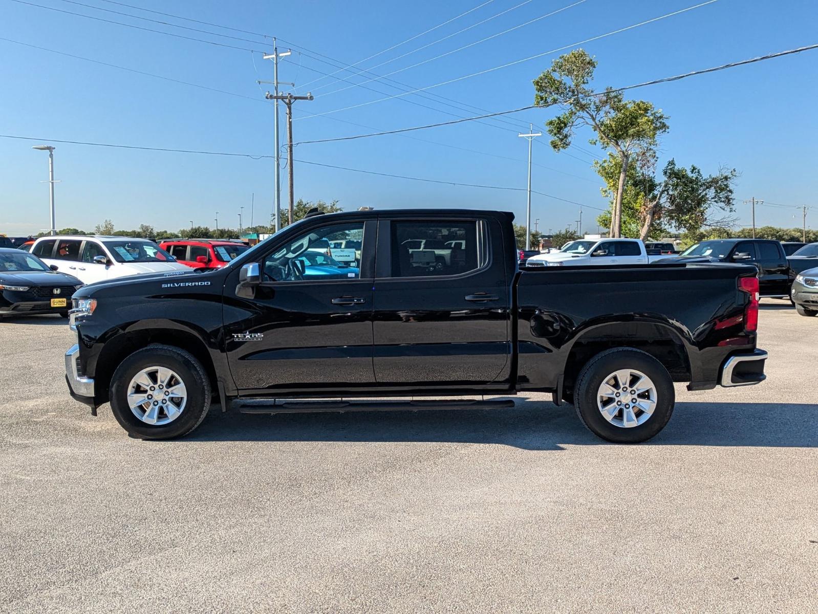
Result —
[[[645,424],[656,408],[656,386],[650,378],[634,369],[610,374],[596,392],[600,413],[613,426],[633,428]]]

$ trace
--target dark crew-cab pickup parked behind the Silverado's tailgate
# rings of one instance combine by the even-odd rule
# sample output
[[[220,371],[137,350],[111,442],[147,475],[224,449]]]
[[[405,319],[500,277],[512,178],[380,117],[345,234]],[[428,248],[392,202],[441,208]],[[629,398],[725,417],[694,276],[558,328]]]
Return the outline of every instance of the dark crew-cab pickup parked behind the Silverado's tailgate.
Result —
[[[808,246],[807,246],[808,247]],[[802,248],[803,249],[803,248]],[[799,271],[811,268],[815,260],[784,255],[779,241],[770,239],[716,239],[690,245],[678,258],[683,262],[743,262],[758,268],[761,295],[789,298],[790,287]]]

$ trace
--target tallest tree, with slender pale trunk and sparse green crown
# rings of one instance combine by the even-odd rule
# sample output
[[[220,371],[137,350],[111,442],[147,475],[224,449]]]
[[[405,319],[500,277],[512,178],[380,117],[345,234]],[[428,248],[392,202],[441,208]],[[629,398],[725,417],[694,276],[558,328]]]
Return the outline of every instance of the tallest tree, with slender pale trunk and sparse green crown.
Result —
[[[654,156],[657,137],[667,132],[666,117],[647,101],[625,101],[622,92],[610,87],[599,95],[591,89],[596,60],[583,49],[558,57],[551,68],[534,80],[534,103],[560,105],[564,112],[546,122],[555,151],[571,145],[577,128],[596,132],[591,145],[612,149],[620,160],[617,191],[613,199],[611,236],[621,236],[622,198],[631,159]]]

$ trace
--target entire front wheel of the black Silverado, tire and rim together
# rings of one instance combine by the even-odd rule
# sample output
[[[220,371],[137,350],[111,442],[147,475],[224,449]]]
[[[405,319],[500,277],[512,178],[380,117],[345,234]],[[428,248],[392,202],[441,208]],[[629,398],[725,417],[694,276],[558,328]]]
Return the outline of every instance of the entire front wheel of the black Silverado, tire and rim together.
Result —
[[[111,379],[114,416],[140,439],[187,435],[205,419],[210,397],[204,368],[180,347],[143,347],[122,361]]]

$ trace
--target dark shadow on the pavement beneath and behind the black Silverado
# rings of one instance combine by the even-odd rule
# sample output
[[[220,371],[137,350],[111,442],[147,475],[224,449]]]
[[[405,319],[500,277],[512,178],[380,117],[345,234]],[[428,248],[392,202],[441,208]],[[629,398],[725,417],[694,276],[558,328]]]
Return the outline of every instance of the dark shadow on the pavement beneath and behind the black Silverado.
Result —
[[[222,414],[181,441],[454,442],[560,450],[614,445],[580,423],[573,406],[517,401],[513,410]],[[818,446],[818,405],[677,403],[667,427],[643,446]]]

